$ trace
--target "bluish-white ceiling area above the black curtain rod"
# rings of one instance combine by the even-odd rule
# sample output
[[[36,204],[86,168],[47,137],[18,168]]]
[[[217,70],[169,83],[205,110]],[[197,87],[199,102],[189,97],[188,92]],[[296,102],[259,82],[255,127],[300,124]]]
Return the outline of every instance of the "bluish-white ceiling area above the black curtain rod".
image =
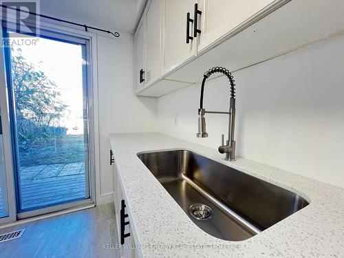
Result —
[[[144,0],[41,0],[40,12],[105,30],[133,32],[144,2]]]

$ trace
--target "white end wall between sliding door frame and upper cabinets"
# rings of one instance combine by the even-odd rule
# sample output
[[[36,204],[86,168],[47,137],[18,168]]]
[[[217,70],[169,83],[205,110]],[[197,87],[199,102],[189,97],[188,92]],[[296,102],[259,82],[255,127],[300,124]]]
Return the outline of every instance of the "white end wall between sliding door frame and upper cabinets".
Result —
[[[110,202],[114,167],[109,165],[109,133],[156,131],[156,99],[133,89],[133,34],[98,36],[100,195]]]

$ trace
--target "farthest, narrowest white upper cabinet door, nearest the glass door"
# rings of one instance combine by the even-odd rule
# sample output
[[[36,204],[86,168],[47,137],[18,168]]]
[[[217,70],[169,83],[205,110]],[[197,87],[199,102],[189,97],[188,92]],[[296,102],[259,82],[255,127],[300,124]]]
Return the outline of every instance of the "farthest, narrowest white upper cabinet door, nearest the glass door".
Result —
[[[144,17],[138,25],[138,30],[135,34],[135,56],[136,56],[136,71],[135,71],[135,84],[136,89],[142,89],[144,87],[144,73],[146,69],[145,64],[145,22]],[[142,72],[141,72],[142,71]]]

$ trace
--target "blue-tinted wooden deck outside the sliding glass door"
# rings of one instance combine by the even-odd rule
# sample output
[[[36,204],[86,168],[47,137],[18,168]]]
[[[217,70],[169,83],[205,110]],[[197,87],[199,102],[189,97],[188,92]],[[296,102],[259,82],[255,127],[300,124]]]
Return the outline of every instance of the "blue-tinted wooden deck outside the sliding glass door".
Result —
[[[21,168],[21,209],[31,210],[87,198],[83,162]],[[88,187],[88,186],[87,186]],[[0,217],[3,213],[0,189]]]

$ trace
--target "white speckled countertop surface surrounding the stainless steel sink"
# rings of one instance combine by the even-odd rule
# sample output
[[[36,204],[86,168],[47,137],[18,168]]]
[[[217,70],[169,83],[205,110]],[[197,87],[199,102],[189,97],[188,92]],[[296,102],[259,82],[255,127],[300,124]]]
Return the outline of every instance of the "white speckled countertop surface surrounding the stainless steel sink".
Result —
[[[215,149],[162,133],[109,138],[144,257],[344,257],[344,189],[250,160],[227,162]],[[166,149],[190,149],[298,193],[310,204],[245,241],[217,239],[189,219],[136,155]]]

